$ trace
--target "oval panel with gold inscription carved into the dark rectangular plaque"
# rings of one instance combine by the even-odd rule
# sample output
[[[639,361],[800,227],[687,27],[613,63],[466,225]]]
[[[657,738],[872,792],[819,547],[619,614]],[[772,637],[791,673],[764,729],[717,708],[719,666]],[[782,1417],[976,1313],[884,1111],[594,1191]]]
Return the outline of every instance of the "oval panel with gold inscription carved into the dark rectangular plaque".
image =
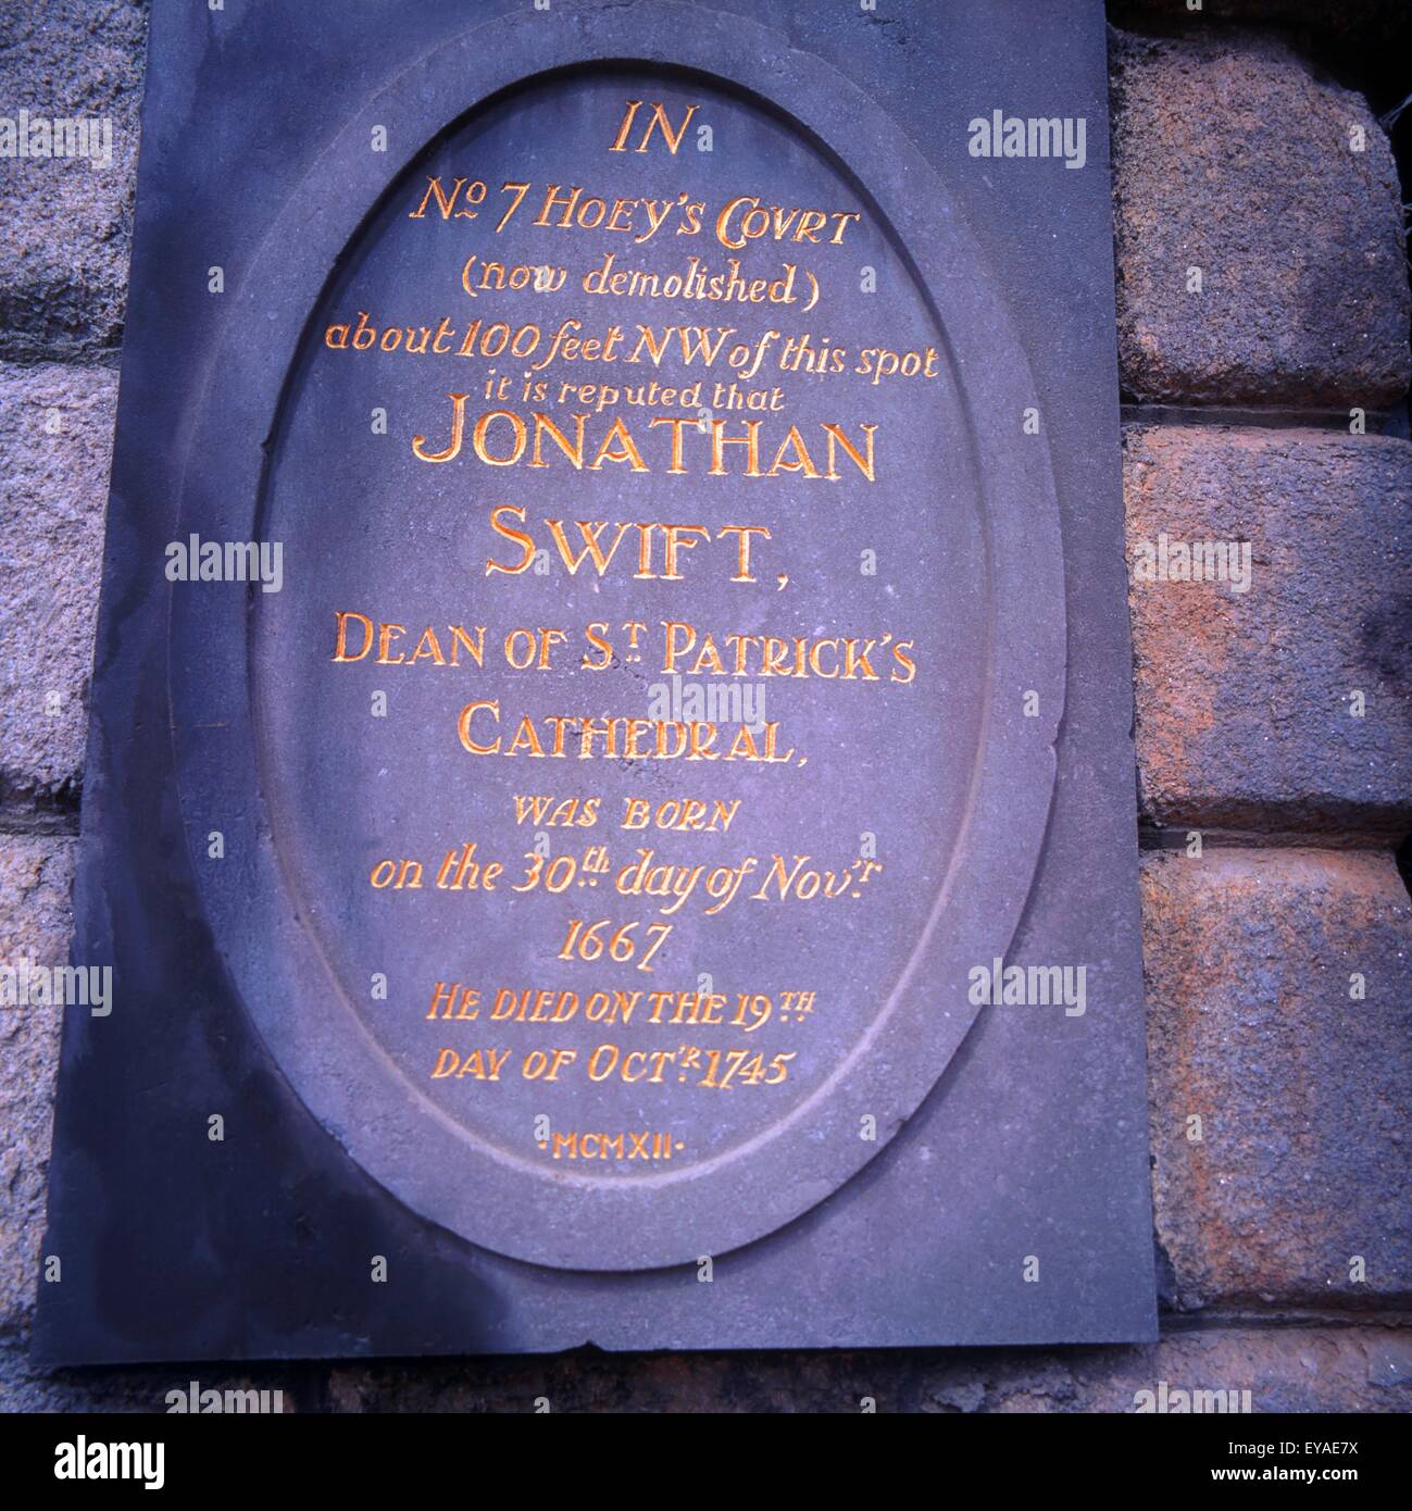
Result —
[[[227,958],[376,1179],[547,1265],[719,1254],[877,1154],[1053,781],[997,672],[1062,606],[1045,468],[977,402],[982,363],[1025,393],[983,263],[883,122],[853,163],[734,73],[436,136],[337,249],[263,477],[236,780],[301,963]]]

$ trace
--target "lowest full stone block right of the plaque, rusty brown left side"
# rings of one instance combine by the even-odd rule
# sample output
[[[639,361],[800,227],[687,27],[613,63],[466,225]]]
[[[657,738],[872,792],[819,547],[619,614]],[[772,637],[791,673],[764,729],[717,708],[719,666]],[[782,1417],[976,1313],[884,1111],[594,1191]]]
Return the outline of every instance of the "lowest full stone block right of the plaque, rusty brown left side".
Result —
[[[1391,855],[1149,857],[1143,940],[1157,1231],[1178,1304],[1401,1304],[1412,905]]]

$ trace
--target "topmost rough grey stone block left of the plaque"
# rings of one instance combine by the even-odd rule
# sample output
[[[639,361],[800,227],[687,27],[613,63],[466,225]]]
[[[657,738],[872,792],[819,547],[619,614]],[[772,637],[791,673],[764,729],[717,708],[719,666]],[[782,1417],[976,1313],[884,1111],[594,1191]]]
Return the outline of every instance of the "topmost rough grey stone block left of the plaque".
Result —
[[[0,160],[0,355],[35,360],[122,337],[146,5],[45,0],[0,9],[5,115],[97,119],[112,162]]]

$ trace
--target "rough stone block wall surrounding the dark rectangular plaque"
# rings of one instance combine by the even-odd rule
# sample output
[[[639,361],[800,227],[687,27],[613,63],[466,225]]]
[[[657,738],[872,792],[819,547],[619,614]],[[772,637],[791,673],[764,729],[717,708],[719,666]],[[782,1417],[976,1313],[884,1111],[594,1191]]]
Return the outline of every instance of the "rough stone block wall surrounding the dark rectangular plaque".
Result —
[[[1412,1407],[1406,242],[1386,134],[1318,66],[1406,27],[1379,0],[1114,15],[1130,555],[1252,545],[1247,591],[1131,588],[1161,1342],[202,1366],[204,1386],[334,1411],[1122,1411],[1158,1380],[1256,1410]],[[68,949],[145,20],[0,14],[5,112],[109,116],[115,145],[106,171],[0,168],[5,961]],[[57,1027],[0,1017],[0,1407],[160,1410],[186,1372],[27,1364]]]

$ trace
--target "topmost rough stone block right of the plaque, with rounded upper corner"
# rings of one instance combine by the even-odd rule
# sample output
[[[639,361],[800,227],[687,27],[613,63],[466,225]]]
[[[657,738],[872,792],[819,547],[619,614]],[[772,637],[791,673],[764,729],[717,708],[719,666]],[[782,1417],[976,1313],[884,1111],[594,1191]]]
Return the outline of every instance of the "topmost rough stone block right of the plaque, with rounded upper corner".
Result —
[[[1409,376],[1401,196],[1362,95],[1259,35],[1114,33],[1111,74],[1124,387],[1395,402]]]

